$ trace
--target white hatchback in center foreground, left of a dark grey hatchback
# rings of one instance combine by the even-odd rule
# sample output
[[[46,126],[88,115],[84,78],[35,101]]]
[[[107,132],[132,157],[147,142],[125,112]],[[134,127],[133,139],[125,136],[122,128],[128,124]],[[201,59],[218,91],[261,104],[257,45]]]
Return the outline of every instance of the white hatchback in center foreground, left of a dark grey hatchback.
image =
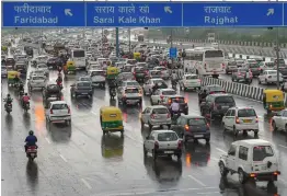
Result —
[[[152,130],[144,142],[144,154],[151,153],[156,160],[160,155],[182,157],[182,140],[173,130]]]

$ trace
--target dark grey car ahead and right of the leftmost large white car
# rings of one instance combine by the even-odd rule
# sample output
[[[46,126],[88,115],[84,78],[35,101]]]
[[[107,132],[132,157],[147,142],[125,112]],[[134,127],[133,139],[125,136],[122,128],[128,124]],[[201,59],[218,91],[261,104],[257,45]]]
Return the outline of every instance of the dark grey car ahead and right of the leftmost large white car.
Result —
[[[71,85],[70,92],[71,96],[76,99],[78,96],[88,96],[89,99],[91,99],[93,95],[92,82],[78,81]]]

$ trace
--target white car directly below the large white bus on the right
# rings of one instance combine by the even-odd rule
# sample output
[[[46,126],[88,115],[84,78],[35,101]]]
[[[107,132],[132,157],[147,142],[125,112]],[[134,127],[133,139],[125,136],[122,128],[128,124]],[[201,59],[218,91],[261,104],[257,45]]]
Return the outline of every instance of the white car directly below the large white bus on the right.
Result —
[[[180,80],[180,88],[181,90],[186,90],[186,89],[198,89],[200,90],[202,88],[202,80],[197,74],[184,74],[183,79]]]

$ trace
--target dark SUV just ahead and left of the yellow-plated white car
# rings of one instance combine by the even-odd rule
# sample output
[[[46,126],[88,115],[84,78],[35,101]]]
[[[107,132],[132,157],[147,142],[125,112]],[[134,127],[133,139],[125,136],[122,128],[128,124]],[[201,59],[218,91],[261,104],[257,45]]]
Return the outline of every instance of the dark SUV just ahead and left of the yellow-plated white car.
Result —
[[[236,106],[236,101],[230,94],[209,94],[200,104],[200,113],[214,119],[215,116],[223,117],[230,107]]]

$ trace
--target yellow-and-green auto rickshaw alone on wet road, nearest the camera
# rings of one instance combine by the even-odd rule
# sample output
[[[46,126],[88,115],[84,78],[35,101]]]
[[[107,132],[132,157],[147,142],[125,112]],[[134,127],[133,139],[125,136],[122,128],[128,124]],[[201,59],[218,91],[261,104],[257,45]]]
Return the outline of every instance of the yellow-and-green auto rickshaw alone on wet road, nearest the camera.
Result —
[[[103,135],[107,132],[120,131],[124,134],[123,114],[118,107],[103,106],[100,108],[100,122]]]

